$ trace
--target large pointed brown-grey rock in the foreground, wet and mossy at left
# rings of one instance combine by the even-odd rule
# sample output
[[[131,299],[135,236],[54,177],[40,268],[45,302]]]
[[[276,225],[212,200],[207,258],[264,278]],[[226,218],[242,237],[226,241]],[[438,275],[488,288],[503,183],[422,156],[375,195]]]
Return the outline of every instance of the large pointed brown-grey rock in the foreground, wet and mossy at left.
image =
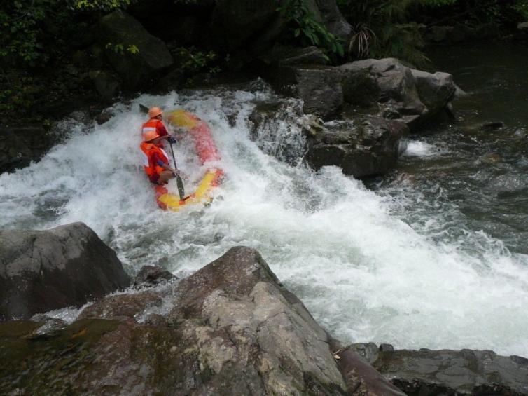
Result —
[[[1,394],[347,394],[324,329],[247,247],[179,284],[106,296],[29,348],[41,326],[0,324]]]

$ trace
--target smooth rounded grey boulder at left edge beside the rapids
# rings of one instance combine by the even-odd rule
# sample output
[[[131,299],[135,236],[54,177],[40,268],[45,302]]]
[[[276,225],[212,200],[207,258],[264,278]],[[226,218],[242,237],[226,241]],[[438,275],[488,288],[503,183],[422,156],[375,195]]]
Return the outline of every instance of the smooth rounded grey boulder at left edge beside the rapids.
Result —
[[[116,253],[85,224],[0,231],[0,320],[81,306],[129,283]]]

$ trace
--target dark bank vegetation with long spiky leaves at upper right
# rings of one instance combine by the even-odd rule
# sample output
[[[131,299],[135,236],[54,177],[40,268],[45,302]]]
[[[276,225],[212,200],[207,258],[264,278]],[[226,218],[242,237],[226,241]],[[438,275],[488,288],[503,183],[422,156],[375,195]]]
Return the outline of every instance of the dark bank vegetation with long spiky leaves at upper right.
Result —
[[[431,25],[494,22],[511,27],[528,20],[528,0],[338,0],[352,25],[349,56],[426,60],[421,30]]]

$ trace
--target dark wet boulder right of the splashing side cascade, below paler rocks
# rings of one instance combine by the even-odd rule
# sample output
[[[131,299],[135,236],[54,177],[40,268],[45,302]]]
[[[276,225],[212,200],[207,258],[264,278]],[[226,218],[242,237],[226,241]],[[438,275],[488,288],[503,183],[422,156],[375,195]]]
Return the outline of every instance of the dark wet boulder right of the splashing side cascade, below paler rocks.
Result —
[[[400,121],[368,117],[349,129],[323,130],[309,139],[306,159],[314,169],[337,165],[345,175],[382,175],[405,151],[408,128]]]

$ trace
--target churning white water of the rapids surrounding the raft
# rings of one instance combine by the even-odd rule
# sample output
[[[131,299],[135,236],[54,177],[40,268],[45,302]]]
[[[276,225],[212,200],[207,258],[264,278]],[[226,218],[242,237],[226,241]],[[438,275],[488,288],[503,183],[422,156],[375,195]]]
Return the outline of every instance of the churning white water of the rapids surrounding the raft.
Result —
[[[63,144],[0,176],[0,228],[84,221],[131,272],[160,264],[187,275],[246,245],[344,342],[528,356],[528,257],[484,233],[450,227],[453,205],[419,207],[417,200],[411,214],[338,168],[312,172],[277,161],[249,138],[247,121],[256,102],[271,99],[267,90],[143,95],[117,104],[104,125],[64,121],[70,135]],[[139,167],[139,103],[184,107],[209,123],[225,171],[212,205],[175,213],[156,207]],[[273,128],[302,144],[293,123]],[[203,169],[186,138],[176,161],[191,190]]]

